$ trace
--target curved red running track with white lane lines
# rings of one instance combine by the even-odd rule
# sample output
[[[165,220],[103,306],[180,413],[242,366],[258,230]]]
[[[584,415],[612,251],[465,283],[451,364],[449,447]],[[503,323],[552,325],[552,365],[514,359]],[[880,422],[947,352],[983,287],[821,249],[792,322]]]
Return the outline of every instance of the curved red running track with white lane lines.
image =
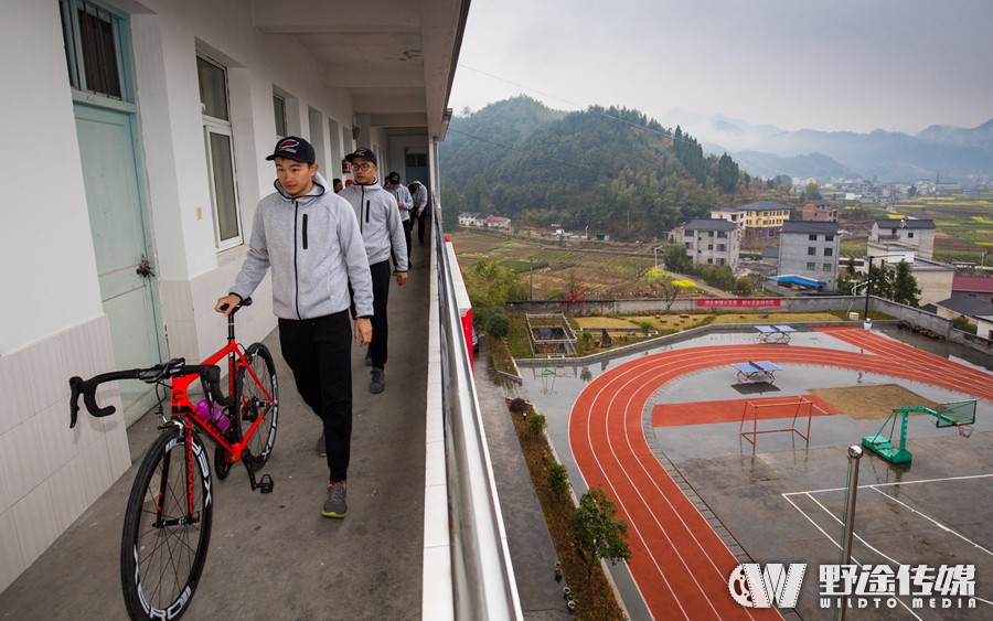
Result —
[[[628,523],[631,575],[655,619],[779,619],[728,593],[738,561],[665,472],[645,440],[642,413],[652,394],[682,375],[743,360],[835,366],[923,382],[993,400],[989,373],[854,328],[822,332],[863,352],[797,345],[690,347],[624,363],[579,394],[569,445],[586,484],[607,492]]]

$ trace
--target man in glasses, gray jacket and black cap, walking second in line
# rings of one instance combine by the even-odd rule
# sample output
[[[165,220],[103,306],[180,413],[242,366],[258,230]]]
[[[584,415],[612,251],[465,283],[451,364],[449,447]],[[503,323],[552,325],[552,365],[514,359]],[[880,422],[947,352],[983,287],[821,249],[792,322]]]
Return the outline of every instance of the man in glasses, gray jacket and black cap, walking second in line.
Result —
[[[369,255],[369,269],[373,281],[373,340],[365,356],[366,366],[372,366],[369,390],[376,395],[386,388],[386,340],[389,326],[386,323],[386,301],[389,297],[389,255],[396,256],[396,283],[407,281],[407,253],[401,206],[378,183],[378,162],[372,149],[356,149],[345,159],[352,164],[355,183],[341,191],[339,196],[346,200],[355,215]]]

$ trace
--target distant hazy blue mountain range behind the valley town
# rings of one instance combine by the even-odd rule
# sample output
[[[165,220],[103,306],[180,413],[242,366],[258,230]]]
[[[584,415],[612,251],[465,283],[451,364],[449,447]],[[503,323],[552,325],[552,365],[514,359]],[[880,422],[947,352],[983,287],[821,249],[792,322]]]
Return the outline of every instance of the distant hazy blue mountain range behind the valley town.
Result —
[[[758,176],[921,179],[975,182],[993,175],[993,119],[974,128],[931,126],[910,136],[876,130],[784,130],[675,109],[659,119],[696,136],[705,151],[727,152]]]

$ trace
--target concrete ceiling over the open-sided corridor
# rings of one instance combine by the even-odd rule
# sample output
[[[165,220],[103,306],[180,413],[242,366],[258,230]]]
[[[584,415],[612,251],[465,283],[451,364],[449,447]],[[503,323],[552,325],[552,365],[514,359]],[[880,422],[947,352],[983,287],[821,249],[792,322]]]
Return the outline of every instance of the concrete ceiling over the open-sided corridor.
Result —
[[[441,137],[469,2],[253,0],[252,11],[261,32],[299,41],[373,127]]]

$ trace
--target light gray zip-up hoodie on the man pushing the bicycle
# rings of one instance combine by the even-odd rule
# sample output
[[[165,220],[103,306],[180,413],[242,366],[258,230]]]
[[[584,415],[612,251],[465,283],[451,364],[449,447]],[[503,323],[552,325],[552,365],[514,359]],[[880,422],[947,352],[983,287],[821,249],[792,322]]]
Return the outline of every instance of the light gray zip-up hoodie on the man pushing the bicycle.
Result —
[[[248,255],[232,293],[247,298],[273,268],[273,311],[281,319],[314,319],[349,308],[372,317],[372,277],[359,222],[348,202],[313,175],[306,196],[276,192],[258,202]],[[349,283],[354,298],[349,297]]]

